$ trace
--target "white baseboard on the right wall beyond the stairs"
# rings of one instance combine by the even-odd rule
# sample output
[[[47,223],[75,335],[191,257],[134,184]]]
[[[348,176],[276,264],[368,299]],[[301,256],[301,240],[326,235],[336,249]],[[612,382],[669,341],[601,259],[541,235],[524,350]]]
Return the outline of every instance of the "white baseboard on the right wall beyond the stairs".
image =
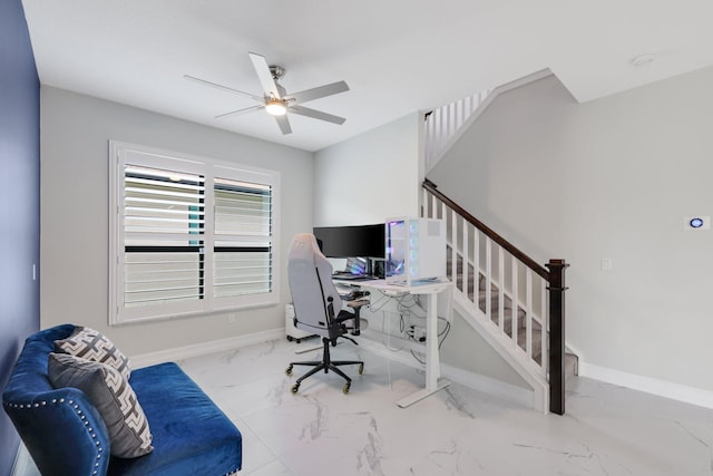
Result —
[[[697,405],[704,408],[713,408],[713,391],[701,388],[687,387],[651,377],[627,373],[606,367],[593,366],[579,360],[579,377],[588,377],[602,380],[632,390],[644,391],[658,397],[671,398],[686,404]]]

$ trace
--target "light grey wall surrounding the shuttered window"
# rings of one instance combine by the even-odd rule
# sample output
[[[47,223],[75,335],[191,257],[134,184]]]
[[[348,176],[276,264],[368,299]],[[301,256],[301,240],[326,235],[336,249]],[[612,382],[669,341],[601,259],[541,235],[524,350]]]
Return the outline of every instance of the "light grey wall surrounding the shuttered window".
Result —
[[[41,327],[92,327],[129,356],[284,327],[283,271],[283,305],[238,311],[235,322],[213,314],[108,328],[109,139],[280,171],[281,261],[291,236],[312,227],[312,153],[42,87]]]

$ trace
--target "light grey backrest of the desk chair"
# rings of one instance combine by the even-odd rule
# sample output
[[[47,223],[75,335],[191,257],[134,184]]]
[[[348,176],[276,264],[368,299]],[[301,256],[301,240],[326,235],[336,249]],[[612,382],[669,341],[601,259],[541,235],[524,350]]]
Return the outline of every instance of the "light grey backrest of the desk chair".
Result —
[[[295,235],[290,245],[287,279],[295,313],[295,327],[330,337],[329,299],[333,315],[339,314],[342,300],[332,283],[332,264],[320,251],[311,233]]]

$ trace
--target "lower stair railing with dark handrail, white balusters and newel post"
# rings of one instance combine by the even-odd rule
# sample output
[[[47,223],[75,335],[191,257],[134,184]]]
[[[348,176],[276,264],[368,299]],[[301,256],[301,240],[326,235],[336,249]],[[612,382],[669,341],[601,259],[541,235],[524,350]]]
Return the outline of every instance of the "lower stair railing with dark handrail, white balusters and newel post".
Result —
[[[455,293],[519,361],[546,379],[549,411],[565,412],[565,260],[543,266],[423,182],[422,216],[447,222]],[[545,407],[547,408],[547,407]]]

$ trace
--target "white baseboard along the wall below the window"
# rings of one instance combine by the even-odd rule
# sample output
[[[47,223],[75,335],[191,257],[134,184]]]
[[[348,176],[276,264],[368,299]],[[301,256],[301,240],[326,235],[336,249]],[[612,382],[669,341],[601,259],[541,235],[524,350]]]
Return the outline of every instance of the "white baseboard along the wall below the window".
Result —
[[[224,352],[226,350],[238,349],[241,347],[252,346],[254,343],[266,342],[268,340],[280,339],[284,337],[284,328],[277,328],[245,336],[235,336],[227,339],[195,343],[192,346],[176,347],[173,349],[159,350],[156,352],[143,353],[139,356],[131,356],[131,366],[138,369],[141,367],[148,367],[162,362],[206,356],[208,353]]]

